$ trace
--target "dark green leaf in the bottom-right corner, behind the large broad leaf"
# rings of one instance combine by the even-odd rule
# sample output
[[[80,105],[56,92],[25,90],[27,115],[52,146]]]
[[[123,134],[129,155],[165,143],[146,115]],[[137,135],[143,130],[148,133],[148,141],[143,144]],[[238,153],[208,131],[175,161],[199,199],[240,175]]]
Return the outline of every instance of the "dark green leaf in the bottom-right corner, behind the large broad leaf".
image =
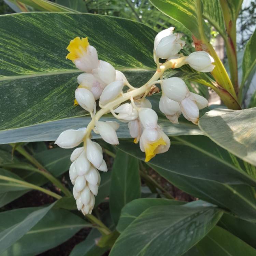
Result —
[[[205,256],[254,256],[256,250],[221,227],[214,227],[198,244]]]

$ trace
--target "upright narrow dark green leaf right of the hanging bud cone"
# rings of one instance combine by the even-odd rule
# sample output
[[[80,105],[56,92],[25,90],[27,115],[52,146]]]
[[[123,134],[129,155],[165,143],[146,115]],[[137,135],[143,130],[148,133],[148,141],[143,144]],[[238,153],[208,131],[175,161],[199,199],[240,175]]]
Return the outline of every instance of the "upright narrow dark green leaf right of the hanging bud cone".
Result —
[[[111,172],[110,213],[117,224],[122,208],[141,194],[138,159],[118,150]]]

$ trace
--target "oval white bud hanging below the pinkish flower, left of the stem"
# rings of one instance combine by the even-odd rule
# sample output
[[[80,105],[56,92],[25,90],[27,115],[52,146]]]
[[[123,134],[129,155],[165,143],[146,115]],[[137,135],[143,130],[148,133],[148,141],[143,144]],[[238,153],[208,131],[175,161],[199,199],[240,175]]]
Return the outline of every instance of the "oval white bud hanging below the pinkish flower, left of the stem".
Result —
[[[75,90],[75,99],[83,109],[90,113],[96,108],[94,95],[86,88],[77,88]]]

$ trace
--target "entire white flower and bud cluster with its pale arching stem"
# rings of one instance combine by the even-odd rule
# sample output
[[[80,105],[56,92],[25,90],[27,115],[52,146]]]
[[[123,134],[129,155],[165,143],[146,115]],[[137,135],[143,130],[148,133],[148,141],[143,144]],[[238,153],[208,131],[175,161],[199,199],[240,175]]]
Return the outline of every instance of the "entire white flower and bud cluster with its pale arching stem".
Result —
[[[91,122],[86,128],[63,131],[55,144],[62,148],[75,148],[71,154],[72,162],[69,170],[76,199],[77,209],[84,215],[91,213],[95,204],[95,196],[100,184],[100,171],[107,171],[103,160],[101,146],[93,142],[91,131],[100,134],[101,138],[112,145],[118,145],[116,130],[119,123],[114,121],[99,121],[103,114],[111,112],[120,122],[128,123],[129,132],[134,143],[140,143],[140,149],[145,152],[145,161],[149,161],[156,154],[168,151],[170,139],[158,125],[157,113],[145,96],[151,86],[159,83],[167,67],[176,68],[188,64],[201,72],[209,72],[214,68],[212,57],[206,52],[196,52],[184,57],[179,51],[185,45],[180,33],[173,33],[169,28],[157,34],[154,42],[154,60],[160,67],[159,59],[167,59],[155,75],[143,86],[132,87],[125,75],[115,70],[108,62],[99,60],[96,49],[89,45],[87,38],[75,38],[67,47],[69,54],[66,58],[73,61],[75,66],[85,72],[77,77],[79,84],[75,90],[75,100],[83,109],[90,112]],[[172,61],[175,59],[175,61]],[[179,64],[178,66],[176,64]],[[176,65],[176,66],[175,66]],[[179,67],[180,67],[179,66]],[[160,80],[162,96],[159,108],[172,123],[178,123],[181,113],[184,117],[197,124],[199,109],[207,106],[203,97],[191,93],[185,82],[179,77]],[[124,93],[123,89],[130,89]],[[96,101],[101,108],[96,113]],[[130,102],[126,102],[130,100]],[[125,103],[126,102],[126,103]]]

